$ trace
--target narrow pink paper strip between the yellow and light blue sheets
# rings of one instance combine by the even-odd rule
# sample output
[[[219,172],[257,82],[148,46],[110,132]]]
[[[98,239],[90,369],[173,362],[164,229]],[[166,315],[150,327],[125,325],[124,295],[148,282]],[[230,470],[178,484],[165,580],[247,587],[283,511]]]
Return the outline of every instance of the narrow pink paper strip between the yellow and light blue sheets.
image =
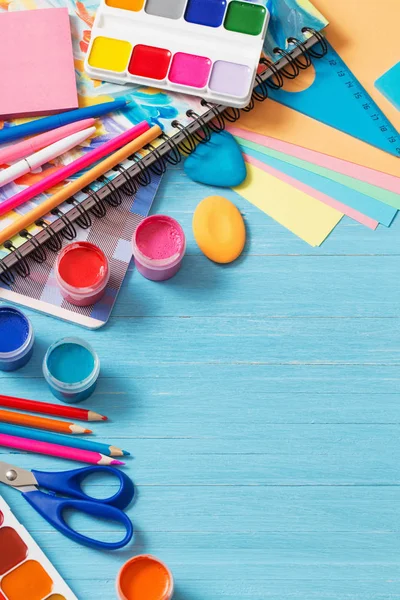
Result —
[[[231,133],[233,133],[233,129],[236,129],[236,128],[234,128],[234,127],[230,128]],[[240,134],[236,133],[235,135],[241,135],[242,130],[238,130],[238,131],[240,131]],[[254,140],[251,140],[251,141],[254,141]],[[253,156],[249,156],[248,154],[244,154],[244,159],[247,163],[254,165],[258,169],[261,169],[262,171],[265,171],[265,173],[269,173],[270,175],[277,177],[278,179],[280,179],[281,181],[284,181],[285,183],[288,183],[289,185],[292,185],[296,189],[301,190],[302,192],[304,192],[305,194],[308,194],[309,196],[312,196],[316,200],[319,200],[320,202],[327,204],[331,208],[335,208],[336,210],[345,214],[346,216],[350,217],[351,219],[358,221],[358,223],[361,223],[362,225],[365,225],[366,227],[369,227],[370,229],[376,229],[378,227],[378,221],[375,221],[374,219],[371,219],[370,217],[363,215],[362,213],[358,212],[358,210],[355,210],[354,208],[350,208],[349,206],[342,204],[338,200],[335,200],[334,198],[331,198],[330,196],[327,196],[326,194],[323,194],[322,192],[315,190],[314,188],[310,187],[309,185],[306,185],[305,183],[302,183],[301,181],[298,181],[297,179],[294,179],[293,177],[290,177],[289,175],[286,175],[285,173],[281,173],[277,169],[274,169],[273,167],[270,167],[269,165],[264,164],[257,158],[254,158]]]

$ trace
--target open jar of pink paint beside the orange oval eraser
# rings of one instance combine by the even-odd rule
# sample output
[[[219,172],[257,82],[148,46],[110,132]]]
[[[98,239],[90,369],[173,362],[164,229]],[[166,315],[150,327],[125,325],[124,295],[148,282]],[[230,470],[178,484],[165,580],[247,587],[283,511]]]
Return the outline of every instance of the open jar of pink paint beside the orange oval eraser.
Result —
[[[139,273],[152,281],[165,281],[181,268],[186,238],[178,221],[166,215],[153,215],[136,229],[132,248]]]

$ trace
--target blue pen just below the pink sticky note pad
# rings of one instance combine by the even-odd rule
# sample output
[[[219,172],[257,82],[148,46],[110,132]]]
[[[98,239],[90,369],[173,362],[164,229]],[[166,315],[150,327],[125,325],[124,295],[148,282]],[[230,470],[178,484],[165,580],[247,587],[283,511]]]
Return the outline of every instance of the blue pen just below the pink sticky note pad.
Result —
[[[60,115],[54,115],[52,117],[45,117],[44,119],[38,119],[36,121],[30,121],[23,125],[15,125],[14,127],[7,127],[0,131],[0,144],[5,142],[12,142],[19,140],[28,135],[36,135],[37,133],[43,133],[44,131],[50,131],[63,125],[69,125],[76,121],[82,121],[83,119],[95,119],[96,117],[102,117],[110,112],[125,108],[129,104],[129,101],[124,98],[114,100],[113,102],[104,102],[103,104],[96,104],[95,106],[87,106],[86,108],[78,108],[69,112],[62,113]]]

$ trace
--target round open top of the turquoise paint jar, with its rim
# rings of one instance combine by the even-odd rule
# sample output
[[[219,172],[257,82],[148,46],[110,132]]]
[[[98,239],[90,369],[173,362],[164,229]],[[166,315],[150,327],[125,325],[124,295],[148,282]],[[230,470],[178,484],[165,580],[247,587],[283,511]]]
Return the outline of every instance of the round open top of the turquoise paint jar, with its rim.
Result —
[[[94,358],[84,346],[68,342],[54,348],[48,358],[47,367],[58,381],[80,383],[92,374]]]

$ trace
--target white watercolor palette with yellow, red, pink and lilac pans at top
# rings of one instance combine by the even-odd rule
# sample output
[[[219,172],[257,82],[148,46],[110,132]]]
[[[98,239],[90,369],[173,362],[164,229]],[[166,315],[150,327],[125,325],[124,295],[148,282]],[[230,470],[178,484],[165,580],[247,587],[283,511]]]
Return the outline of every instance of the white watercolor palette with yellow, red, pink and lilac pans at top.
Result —
[[[102,0],[85,69],[94,79],[244,107],[268,27],[265,5],[265,0]]]

